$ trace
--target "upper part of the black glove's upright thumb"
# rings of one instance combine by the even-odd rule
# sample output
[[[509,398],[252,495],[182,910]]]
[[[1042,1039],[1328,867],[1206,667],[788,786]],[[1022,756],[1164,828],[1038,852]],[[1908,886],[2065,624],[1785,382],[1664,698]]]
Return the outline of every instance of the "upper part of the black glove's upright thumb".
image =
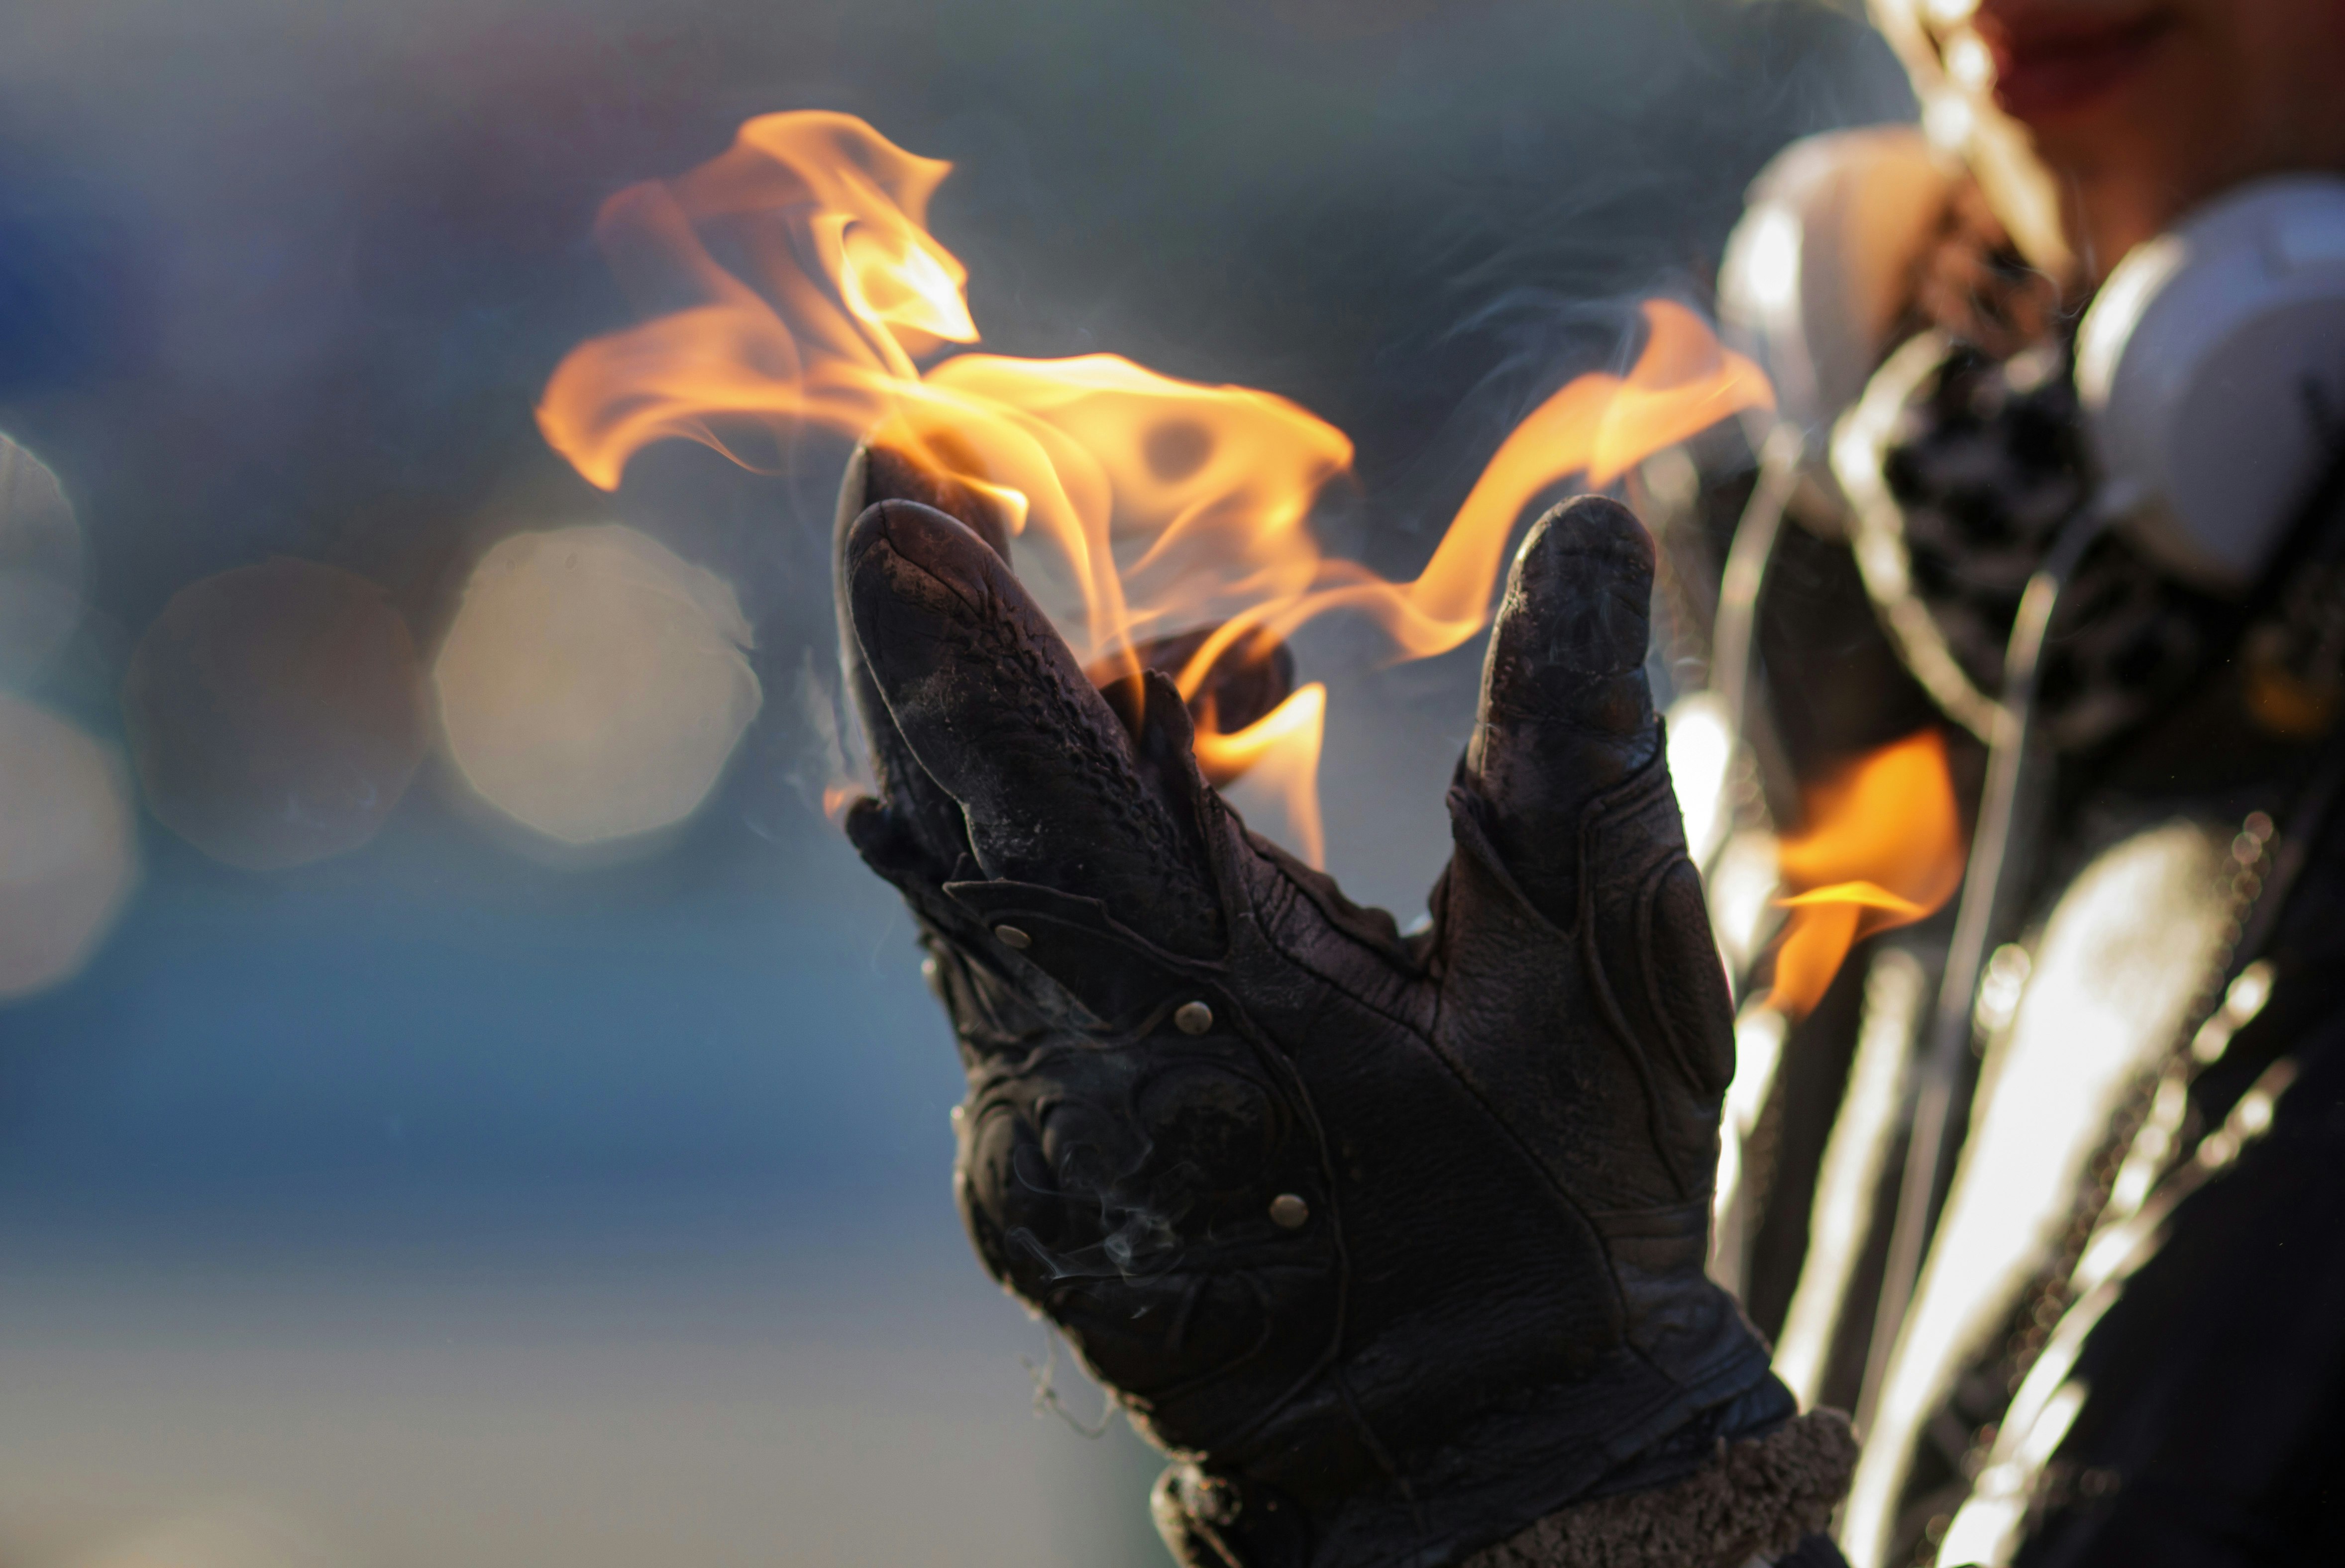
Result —
[[[1494,846],[1550,921],[1576,928],[1581,816],[1653,759],[1644,680],[1653,541],[1618,502],[1583,495],[1515,555],[1482,666],[1466,776]]]

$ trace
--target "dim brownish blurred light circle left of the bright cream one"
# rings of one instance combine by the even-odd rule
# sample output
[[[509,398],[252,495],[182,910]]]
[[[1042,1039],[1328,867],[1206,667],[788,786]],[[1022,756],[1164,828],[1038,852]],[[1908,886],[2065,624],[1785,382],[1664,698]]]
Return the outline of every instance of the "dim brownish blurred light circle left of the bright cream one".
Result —
[[[181,588],[131,654],[122,720],[155,816],[253,872],[373,839],[427,743],[408,623],[310,560]]]

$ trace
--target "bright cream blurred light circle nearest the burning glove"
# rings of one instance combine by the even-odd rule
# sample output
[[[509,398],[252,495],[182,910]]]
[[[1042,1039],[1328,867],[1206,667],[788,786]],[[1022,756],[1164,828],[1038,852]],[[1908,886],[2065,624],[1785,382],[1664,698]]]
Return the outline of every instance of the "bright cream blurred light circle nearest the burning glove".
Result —
[[[757,717],[734,591],[614,523],[514,534],[464,586],[431,668],[448,755],[563,844],[685,820]]]

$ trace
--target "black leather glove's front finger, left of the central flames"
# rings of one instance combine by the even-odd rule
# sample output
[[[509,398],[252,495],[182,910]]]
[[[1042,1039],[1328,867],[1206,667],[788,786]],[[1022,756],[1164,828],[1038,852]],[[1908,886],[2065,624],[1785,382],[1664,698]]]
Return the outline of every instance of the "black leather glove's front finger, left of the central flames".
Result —
[[[865,509],[840,572],[861,666],[912,762],[959,802],[983,872],[1217,952],[1198,830],[1163,783],[1187,757],[1142,755],[1187,745],[1180,701],[1135,743],[1001,555],[931,506]]]

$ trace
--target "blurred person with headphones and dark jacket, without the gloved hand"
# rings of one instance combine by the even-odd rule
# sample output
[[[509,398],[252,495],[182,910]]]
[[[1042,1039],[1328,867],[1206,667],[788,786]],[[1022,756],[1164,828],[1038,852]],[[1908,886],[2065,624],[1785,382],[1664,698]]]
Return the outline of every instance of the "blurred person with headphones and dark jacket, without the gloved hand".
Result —
[[[1874,16],[1921,124],[1785,150],[1721,270],[1778,473],[1656,516],[1719,584],[1782,497],[1747,642],[1672,628],[1756,816],[1932,727],[1972,874],[1766,1064],[1721,1273],[1857,1411],[1860,1563],[2333,1561],[2345,7]]]

